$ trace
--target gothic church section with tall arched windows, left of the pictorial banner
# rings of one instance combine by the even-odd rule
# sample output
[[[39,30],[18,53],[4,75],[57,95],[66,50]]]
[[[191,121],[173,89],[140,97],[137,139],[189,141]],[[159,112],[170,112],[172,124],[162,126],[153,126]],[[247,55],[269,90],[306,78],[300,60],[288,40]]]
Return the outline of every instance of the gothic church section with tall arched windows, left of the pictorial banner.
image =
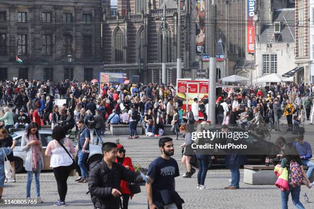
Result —
[[[189,77],[189,13],[182,2],[181,57],[184,76]],[[166,42],[166,82],[176,79],[177,2],[166,0],[166,27],[159,0],[119,0],[117,15],[111,16],[104,4],[104,71],[124,72],[127,77],[140,75],[141,81],[162,81],[163,30]]]

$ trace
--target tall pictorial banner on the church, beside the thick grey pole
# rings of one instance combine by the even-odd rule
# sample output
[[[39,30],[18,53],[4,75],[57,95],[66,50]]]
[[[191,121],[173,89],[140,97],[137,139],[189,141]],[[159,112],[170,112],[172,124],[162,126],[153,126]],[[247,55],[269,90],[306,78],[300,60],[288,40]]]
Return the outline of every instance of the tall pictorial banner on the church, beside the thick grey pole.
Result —
[[[196,37],[195,45],[205,49],[205,0],[195,0]],[[197,50],[198,52],[198,50]],[[205,51],[203,51],[205,53]]]

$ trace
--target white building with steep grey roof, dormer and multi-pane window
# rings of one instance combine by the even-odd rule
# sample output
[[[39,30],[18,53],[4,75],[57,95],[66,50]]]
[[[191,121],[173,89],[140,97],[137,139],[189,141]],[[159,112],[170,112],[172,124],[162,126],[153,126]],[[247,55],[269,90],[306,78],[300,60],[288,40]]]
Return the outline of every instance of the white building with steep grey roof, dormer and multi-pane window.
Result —
[[[259,24],[261,30],[256,39],[256,71],[252,73],[252,83],[264,75],[284,75],[296,68],[295,8],[275,9],[272,22],[260,19]]]

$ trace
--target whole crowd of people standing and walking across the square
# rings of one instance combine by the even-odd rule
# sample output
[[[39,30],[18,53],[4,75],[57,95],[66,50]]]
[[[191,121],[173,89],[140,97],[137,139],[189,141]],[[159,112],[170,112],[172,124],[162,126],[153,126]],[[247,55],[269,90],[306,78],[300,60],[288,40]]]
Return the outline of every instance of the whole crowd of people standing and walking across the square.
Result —
[[[302,123],[311,119],[313,122],[314,111],[310,97],[309,85],[303,86],[292,83],[291,85],[272,85],[265,88],[258,86],[243,86],[239,88],[224,88],[216,101],[216,123],[222,125],[222,132],[229,132],[230,127],[253,126],[254,129],[264,129],[267,123],[280,132],[279,119],[287,118],[288,129],[294,134],[302,135],[304,128]],[[314,89],[313,89],[314,90]],[[134,173],[131,158],[126,157],[123,145],[105,142],[102,139],[106,131],[106,124],[128,124],[128,139],[136,139],[140,136],[136,132],[137,126],[144,126],[146,133],[159,137],[163,135],[165,124],[171,124],[171,131],[175,139],[182,134],[184,143],[182,163],[186,165],[187,172],[184,178],[191,178],[196,172],[190,164],[193,149],[191,148],[191,133],[209,129],[208,123],[208,99],[194,98],[193,103],[186,110],[183,109],[184,99],[176,95],[174,85],[156,85],[148,83],[107,84],[101,88],[96,83],[77,82],[65,80],[52,83],[49,80],[15,80],[6,81],[0,85],[0,105],[5,105],[0,121],[3,128],[0,129],[0,199],[3,191],[3,182],[15,182],[16,179],[5,179],[3,172],[2,156],[5,154],[14,168],[12,150],[15,141],[8,134],[10,128],[25,129],[22,137],[22,151],[26,152],[25,170],[27,171],[26,198],[30,199],[30,187],[35,176],[36,201],[42,202],[40,196],[40,173],[44,166],[41,152],[41,136],[38,130],[46,124],[51,125],[52,138],[47,145],[45,155],[50,156],[50,166],[53,168],[57,182],[59,198],[55,206],[64,206],[67,194],[67,179],[71,171],[76,168],[78,183],[88,183],[91,200],[95,208],[127,208],[132,192],[127,181],[146,181],[146,191],[149,208],[182,208],[184,200],[175,192],[174,178],[180,176],[178,163],[171,158],[174,153],[172,138],[163,137],[159,140],[161,157],[154,160],[149,168],[147,176]],[[62,107],[56,105],[55,99],[65,99]],[[10,111],[9,107],[12,107]],[[204,117],[200,117],[202,112]],[[186,119],[183,116],[186,116]],[[305,118],[306,117],[306,118]],[[292,119],[294,122],[292,123]],[[203,122],[201,122],[204,120]],[[207,122],[206,122],[207,121]],[[195,124],[201,122],[198,130]],[[74,149],[72,141],[66,135],[74,129],[77,133],[77,146]],[[94,132],[96,138],[94,139]],[[300,137],[299,137],[300,138]],[[298,138],[298,139],[299,139]],[[102,143],[103,160],[92,169],[87,166],[89,145]],[[204,143],[203,139],[197,143]],[[304,179],[310,187],[308,177],[314,169],[311,158],[311,148],[303,138],[297,140],[294,148],[299,155],[286,153],[284,139],[278,139],[276,149],[273,151],[273,162],[281,163],[281,168],[288,168],[290,162],[298,161],[309,167]],[[11,148],[8,148],[11,147]],[[291,148],[292,149],[292,148]],[[76,153],[75,159],[73,154]],[[214,159],[211,153],[196,152],[198,162],[197,189],[206,190],[206,173],[210,160]],[[299,156],[299,157],[296,157]],[[298,158],[298,160],[296,160]],[[276,161],[277,159],[277,161]],[[300,160],[299,160],[300,159]],[[231,171],[231,182],[225,189],[240,189],[239,168],[246,162],[244,155],[236,152],[226,156],[226,166]],[[111,171],[118,175],[113,175]],[[281,174],[282,169],[279,170]],[[301,207],[297,196],[300,195],[298,186],[291,188],[293,203]],[[100,188],[105,188],[100,190]],[[161,194],[165,191],[165,194]],[[282,192],[283,205],[287,202],[288,192]],[[120,202],[120,198],[123,201]],[[164,199],[170,196],[169,199]],[[167,203],[168,202],[168,203]],[[110,208],[111,208],[110,207]],[[284,206],[283,206],[284,207]]]

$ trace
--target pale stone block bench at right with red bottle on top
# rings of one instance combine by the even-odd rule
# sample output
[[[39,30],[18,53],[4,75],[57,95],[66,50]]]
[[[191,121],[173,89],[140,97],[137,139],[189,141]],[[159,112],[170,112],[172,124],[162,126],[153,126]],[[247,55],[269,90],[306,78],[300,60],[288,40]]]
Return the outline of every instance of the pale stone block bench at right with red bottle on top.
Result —
[[[244,165],[244,183],[253,185],[274,185],[278,177],[273,172],[274,165]],[[307,166],[303,166],[307,170]],[[314,181],[314,172],[309,180]]]

